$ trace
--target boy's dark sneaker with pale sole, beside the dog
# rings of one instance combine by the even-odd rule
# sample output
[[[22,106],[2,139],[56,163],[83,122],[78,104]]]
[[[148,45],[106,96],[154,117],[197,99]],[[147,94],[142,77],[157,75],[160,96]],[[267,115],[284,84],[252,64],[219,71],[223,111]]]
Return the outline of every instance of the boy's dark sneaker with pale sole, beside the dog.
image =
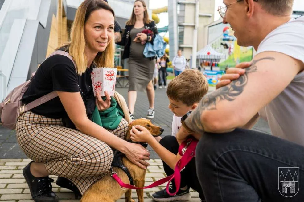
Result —
[[[172,186],[172,184],[170,184],[169,186],[169,191],[170,193],[175,192],[175,188]],[[154,194],[152,194],[152,199],[158,202],[170,202],[170,201],[187,201],[191,199],[191,195],[189,192],[189,188],[187,190],[181,190],[179,189],[179,191],[174,195],[174,196],[170,196],[166,189],[163,189],[161,191],[155,192]]]

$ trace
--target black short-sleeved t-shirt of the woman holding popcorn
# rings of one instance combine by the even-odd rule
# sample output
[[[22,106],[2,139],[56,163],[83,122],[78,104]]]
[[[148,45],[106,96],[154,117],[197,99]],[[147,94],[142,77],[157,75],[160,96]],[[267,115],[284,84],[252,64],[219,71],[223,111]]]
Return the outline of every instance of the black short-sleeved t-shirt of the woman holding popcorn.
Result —
[[[86,106],[87,115],[90,116],[95,107],[91,72],[92,67],[87,68],[86,72],[79,76],[74,64],[68,57],[63,55],[51,56],[43,61],[37,69],[29,88],[22,97],[22,102],[30,103],[52,91],[80,92]],[[49,118],[69,120],[59,97],[31,109],[31,111]],[[68,125],[70,124],[71,122]]]

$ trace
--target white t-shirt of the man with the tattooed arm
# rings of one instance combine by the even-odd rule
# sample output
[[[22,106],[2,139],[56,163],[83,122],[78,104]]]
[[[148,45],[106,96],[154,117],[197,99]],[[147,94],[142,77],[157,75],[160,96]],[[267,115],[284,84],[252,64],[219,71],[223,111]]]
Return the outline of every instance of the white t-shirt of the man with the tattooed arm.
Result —
[[[265,51],[281,52],[304,63],[304,17],[291,19],[269,33],[257,54]],[[290,68],[292,64],[286,66],[286,71]],[[268,122],[274,136],[304,145],[304,71],[259,114]]]

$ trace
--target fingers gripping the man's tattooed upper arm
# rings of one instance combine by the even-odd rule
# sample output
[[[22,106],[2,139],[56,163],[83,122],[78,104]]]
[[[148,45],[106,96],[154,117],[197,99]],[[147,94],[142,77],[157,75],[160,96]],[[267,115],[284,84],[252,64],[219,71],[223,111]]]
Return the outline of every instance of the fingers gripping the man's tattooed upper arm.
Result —
[[[226,74],[224,74],[220,78],[220,81],[216,84],[216,89],[226,86],[230,84],[231,81],[240,78],[240,76],[246,72],[244,68],[250,66],[251,66],[251,62],[242,62],[240,64],[237,64],[235,67],[228,68]]]

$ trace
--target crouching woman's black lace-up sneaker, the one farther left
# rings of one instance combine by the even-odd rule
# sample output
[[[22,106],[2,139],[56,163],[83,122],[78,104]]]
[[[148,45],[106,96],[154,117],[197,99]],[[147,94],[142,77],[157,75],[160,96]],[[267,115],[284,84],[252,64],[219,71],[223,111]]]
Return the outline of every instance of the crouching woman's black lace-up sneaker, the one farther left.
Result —
[[[33,162],[33,161],[32,161]],[[31,162],[31,163],[32,163]],[[31,174],[30,166],[27,164],[23,169],[23,176],[30,188],[31,196],[35,202],[58,202],[58,197],[52,192],[53,179],[47,177],[35,177]]]

